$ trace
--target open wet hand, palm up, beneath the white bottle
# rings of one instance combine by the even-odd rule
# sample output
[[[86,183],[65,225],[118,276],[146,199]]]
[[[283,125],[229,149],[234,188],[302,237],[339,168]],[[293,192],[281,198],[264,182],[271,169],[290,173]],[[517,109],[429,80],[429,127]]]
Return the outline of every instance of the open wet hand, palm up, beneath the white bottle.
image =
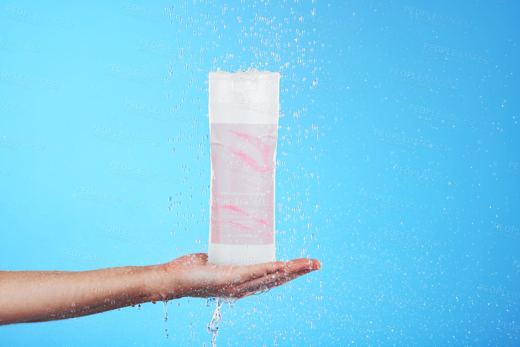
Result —
[[[306,258],[285,263],[217,265],[207,261],[206,253],[184,255],[157,266],[163,272],[163,285],[157,288],[165,296],[163,300],[183,297],[241,299],[321,269],[319,261]]]

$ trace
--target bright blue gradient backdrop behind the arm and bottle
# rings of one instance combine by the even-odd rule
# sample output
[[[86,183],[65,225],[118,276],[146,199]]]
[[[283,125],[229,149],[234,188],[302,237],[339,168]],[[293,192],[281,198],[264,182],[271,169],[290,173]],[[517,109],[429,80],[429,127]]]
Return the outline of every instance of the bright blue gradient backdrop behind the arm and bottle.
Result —
[[[54,22],[26,22],[29,14],[12,14],[13,8]],[[410,15],[412,8],[467,20],[472,28],[421,22],[416,19],[427,15]],[[520,235],[511,239],[493,230],[496,224],[520,226],[520,177],[509,168],[520,162],[516,2],[19,1],[1,10],[2,40],[39,47],[30,52],[0,44],[3,270],[109,266],[67,256],[69,249],[123,265],[207,251],[207,73],[252,66],[282,74],[277,256],[308,256],[323,266],[227,307],[217,345],[518,345],[520,330],[508,327],[520,325],[520,300],[490,297],[496,288],[520,294]],[[57,18],[69,22],[58,25]],[[336,25],[320,24],[324,19]],[[172,52],[147,47],[147,41],[172,46]],[[428,56],[425,43],[492,63]],[[108,64],[159,77],[129,81]],[[457,83],[457,89],[395,81],[392,69]],[[9,72],[59,83],[59,89],[14,85],[19,81]],[[155,116],[163,119],[136,114],[132,102],[157,107],[161,114]],[[13,104],[24,113],[6,109]],[[477,124],[415,118],[420,113],[410,105]],[[160,144],[96,138],[93,126]],[[443,150],[380,143],[378,130],[422,137]],[[9,148],[6,136],[45,147]],[[143,175],[114,174],[112,162],[173,178],[146,182]],[[397,166],[448,177],[462,187],[406,182],[395,177]],[[87,201],[77,187],[144,201],[144,208]],[[427,205],[427,212],[388,209],[372,193]],[[28,212],[20,211],[22,204]],[[143,237],[103,234],[97,223]],[[385,227],[446,248],[399,243],[397,234],[382,237]],[[374,259],[395,266],[374,266]],[[148,303],[141,310],[4,326],[0,345],[209,345],[213,309],[205,300],[184,298],[167,304],[167,322],[162,304]]]

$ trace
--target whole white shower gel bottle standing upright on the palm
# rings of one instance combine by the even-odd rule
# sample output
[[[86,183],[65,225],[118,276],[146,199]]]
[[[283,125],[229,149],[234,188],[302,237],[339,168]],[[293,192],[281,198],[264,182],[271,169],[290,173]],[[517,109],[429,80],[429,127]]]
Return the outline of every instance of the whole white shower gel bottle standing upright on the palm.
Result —
[[[210,72],[209,260],[275,261],[278,72]]]

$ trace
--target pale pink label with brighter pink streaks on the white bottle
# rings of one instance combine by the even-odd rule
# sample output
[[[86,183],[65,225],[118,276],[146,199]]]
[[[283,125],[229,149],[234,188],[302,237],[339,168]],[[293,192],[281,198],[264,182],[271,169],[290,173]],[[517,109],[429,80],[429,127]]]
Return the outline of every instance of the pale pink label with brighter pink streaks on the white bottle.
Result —
[[[277,126],[211,123],[210,128],[211,242],[272,244]]]

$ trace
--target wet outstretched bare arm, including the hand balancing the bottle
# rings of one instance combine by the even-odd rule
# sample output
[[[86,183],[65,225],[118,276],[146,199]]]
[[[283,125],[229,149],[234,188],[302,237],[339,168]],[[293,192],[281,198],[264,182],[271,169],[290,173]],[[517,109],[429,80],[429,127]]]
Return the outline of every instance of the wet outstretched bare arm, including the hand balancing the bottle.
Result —
[[[314,270],[314,259],[218,266],[206,253],[92,271],[0,271],[0,325],[86,316],[183,297],[240,299]]]

